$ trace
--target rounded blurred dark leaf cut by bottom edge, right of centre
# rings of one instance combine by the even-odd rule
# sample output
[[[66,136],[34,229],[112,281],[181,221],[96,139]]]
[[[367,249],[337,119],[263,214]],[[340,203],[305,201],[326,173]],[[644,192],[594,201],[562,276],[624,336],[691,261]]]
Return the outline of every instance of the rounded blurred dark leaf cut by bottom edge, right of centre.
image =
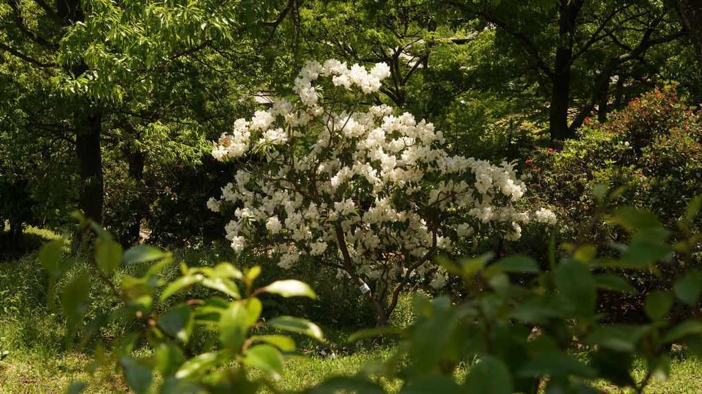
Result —
[[[463,386],[468,393],[512,394],[512,375],[503,360],[488,355],[470,368]]]

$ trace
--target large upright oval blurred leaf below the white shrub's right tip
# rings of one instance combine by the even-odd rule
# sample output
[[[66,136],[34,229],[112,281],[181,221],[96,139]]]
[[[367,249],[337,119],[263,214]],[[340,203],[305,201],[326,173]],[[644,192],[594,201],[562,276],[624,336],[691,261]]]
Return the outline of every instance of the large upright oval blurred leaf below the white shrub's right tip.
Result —
[[[556,271],[556,285],[569,304],[581,315],[595,312],[597,286],[587,266],[575,259],[564,259]]]

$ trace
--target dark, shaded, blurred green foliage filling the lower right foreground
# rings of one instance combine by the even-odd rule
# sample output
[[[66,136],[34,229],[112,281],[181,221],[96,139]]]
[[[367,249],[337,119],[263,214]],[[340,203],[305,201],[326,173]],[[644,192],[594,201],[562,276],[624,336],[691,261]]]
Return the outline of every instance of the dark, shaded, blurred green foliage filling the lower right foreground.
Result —
[[[673,250],[650,231],[663,228],[651,222],[649,212],[618,210],[614,215],[637,238],[626,245],[628,252],[643,255],[651,244]],[[698,318],[668,318],[674,305],[697,315],[702,286],[698,271],[676,278],[677,300],[663,290],[645,294],[648,322],[601,325],[604,315],[595,310],[595,301],[610,288],[598,280],[607,266],[649,270],[656,263],[668,263],[657,259],[632,266],[621,261],[625,253],[616,259],[596,258],[597,250],[588,244],[569,250],[569,256],[552,261],[543,272],[527,257],[507,257],[489,265],[475,264],[479,260],[442,263],[450,272],[463,273],[463,280],[475,289],[473,297],[453,304],[445,296],[432,301],[416,296],[418,318],[399,330],[403,341],[394,356],[382,366],[367,365],[356,376],[331,379],[305,393],[335,393],[338,388],[385,392],[376,379],[369,379],[371,373],[403,379],[398,393],[602,393],[595,386],[604,382],[642,393],[653,376],[668,375],[670,355],[665,348],[682,344],[702,355]],[[531,280],[519,284],[505,271],[529,274]],[[380,332],[359,333],[373,334]],[[410,357],[411,365],[399,365],[402,357]],[[633,374],[636,360],[644,365],[642,378]],[[456,368],[466,362],[467,376],[456,379]]]

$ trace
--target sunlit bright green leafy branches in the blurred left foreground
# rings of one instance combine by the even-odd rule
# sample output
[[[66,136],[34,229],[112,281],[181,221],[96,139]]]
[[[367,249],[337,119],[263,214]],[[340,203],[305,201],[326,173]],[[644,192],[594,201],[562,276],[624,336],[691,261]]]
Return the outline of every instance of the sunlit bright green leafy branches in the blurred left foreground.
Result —
[[[80,333],[81,346],[102,327],[114,322],[138,322],[133,331],[120,337],[111,353],[98,354],[88,367],[114,365],[135,393],[220,392],[237,387],[237,392],[255,393],[264,380],[249,378],[250,369],[258,369],[271,379],[283,373],[284,355],[294,354],[294,342],[280,334],[268,334],[261,327],[298,332],[322,341],[322,331],[311,322],[280,316],[260,320],[263,305],[259,294],[282,297],[311,297],[316,294],[297,280],[278,280],[258,289],[253,281],[258,266],[241,271],[232,264],[192,268],[181,264],[181,275],[171,283],[161,278],[161,271],[171,261],[171,254],[147,245],[122,250],[107,231],[84,220],[84,231],[92,229],[98,238],[88,254],[89,273],[71,278],[59,291],[62,311],[67,318],[67,344]],[[52,282],[60,279],[74,261],[62,261],[63,240],[47,244],[39,253],[42,266]],[[115,276],[124,266],[147,264],[144,276]],[[97,316],[87,315],[91,299],[91,280],[107,287],[119,307]],[[239,283],[243,288],[239,288]],[[189,299],[193,286],[215,290],[218,295]],[[224,296],[224,297],[223,297]],[[49,299],[54,294],[48,295]],[[270,330],[269,330],[270,331]],[[253,334],[256,332],[256,334]],[[134,351],[145,339],[151,349],[146,358]],[[160,378],[158,377],[160,376]],[[69,392],[79,393],[86,383],[74,383]]]

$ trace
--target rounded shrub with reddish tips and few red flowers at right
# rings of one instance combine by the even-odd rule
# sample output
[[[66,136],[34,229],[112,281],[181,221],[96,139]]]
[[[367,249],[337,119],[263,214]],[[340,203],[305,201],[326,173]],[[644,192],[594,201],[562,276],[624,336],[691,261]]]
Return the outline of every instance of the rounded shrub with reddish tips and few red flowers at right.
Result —
[[[650,210],[668,228],[698,231],[699,218],[678,219],[702,181],[701,130],[700,114],[680,104],[674,88],[656,89],[606,123],[588,120],[578,140],[538,152],[526,167],[535,177],[534,193],[559,210],[566,229],[595,214],[590,195],[604,184],[622,187],[612,196],[616,203]],[[627,224],[632,220],[658,224],[653,215],[625,209],[617,216],[625,227],[637,224]],[[597,242],[618,241],[622,234],[608,224],[590,233]]]

